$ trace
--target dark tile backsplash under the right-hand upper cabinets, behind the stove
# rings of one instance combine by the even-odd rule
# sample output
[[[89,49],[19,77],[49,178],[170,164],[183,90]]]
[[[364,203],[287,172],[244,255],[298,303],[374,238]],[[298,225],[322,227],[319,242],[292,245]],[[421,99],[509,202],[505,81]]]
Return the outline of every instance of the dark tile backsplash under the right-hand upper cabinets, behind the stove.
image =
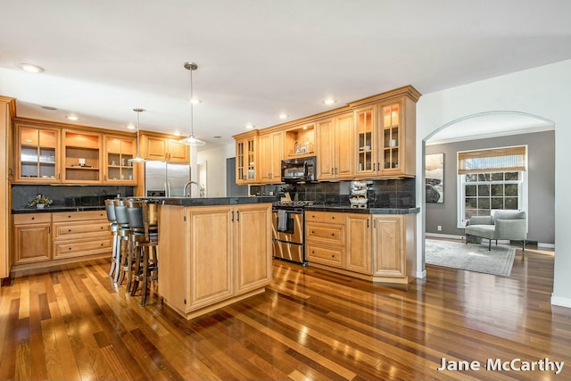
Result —
[[[369,208],[414,208],[416,207],[415,178],[398,178],[390,180],[369,180]],[[299,200],[315,203],[349,206],[351,181],[321,182],[308,184],[288,184],[276,186],[251,186],[253,195],[275,195],[279,199],[289,192],[292,199],[297,195]]]

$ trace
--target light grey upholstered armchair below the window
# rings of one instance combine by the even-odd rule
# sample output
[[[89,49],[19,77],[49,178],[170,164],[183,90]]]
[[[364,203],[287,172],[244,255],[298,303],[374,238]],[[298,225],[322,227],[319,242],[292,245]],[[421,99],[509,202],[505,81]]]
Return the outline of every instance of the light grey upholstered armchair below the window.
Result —
[[[495,210],[492,211],[492,216],[470,217],[464,234],[467,244],[468,236],[488,239],[488,250],[492,249],[492,239],[495,239],[496,245],[499,239],[521,240],[522,251],[525,251],[525,239],[527,238],[525,211]]]

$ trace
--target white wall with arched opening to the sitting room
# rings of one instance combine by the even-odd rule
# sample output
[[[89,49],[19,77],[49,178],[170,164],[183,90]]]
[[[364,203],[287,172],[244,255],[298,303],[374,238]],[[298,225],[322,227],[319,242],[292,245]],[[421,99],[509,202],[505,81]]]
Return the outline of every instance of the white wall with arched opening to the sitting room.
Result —
[[[571,308],[571,60],[423,95],[417,105],[418,243],[424,243],[423,145],[446,123],[478,112],[528,112],[555,124],[555,276],[551,302]],[[424,244],[418,244],[424,270]],[[423,271],[418,272],[422,276]]]

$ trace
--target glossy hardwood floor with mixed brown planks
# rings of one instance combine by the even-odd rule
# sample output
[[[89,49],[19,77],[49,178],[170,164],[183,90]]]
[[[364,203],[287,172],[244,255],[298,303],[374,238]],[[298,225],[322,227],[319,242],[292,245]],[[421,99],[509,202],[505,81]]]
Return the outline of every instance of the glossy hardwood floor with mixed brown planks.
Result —
[[[510,277],[427,266],[396,288],[275,261],[265,294],[190,321],[156,296],[141,307],[108,271],[4,282],[1,380],[571,379],[571,309],[550,305],[553,257],[532,248]],[[443,358],[482,367],[438,371]],[[565,361],[559,375],[485,369],[545,358]]]

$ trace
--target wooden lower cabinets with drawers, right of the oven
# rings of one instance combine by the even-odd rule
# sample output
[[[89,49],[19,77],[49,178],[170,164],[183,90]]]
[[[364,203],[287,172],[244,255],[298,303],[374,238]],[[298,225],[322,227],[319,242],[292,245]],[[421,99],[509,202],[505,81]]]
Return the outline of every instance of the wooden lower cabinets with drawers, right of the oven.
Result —
[[[416,256],[416,214],[306,211],[310,266],[385,283],[407,283]]]

